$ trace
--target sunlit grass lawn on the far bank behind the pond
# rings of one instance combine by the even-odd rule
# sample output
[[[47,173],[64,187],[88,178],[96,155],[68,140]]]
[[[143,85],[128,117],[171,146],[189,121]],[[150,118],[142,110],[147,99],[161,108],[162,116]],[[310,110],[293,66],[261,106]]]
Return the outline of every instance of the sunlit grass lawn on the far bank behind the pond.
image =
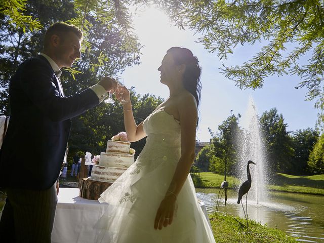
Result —
[[[211,172],[201,172],[200,183],[195,184],[201,188],[219,188],[224,180],[223,175]],[[230,188],[238,188],[240,181],[232,176],[227,176]],[[194,182],[197,180],[194,180]],[[268,185],[268,189],[275,191],[287,191],[297,193],[308,193],[316,195],[324,195],[324,175],[315,176],[292,176],[287,174],[276,174],[276,177]]]

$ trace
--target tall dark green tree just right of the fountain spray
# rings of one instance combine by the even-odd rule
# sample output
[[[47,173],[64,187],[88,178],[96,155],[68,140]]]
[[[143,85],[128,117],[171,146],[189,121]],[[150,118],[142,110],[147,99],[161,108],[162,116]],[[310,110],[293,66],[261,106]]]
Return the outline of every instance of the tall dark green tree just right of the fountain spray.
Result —
[[[270,172],[289,173],[294,150],[284,117],[278,114],[276,108],[272,108],[261,115],[260,127],[265,139]]]

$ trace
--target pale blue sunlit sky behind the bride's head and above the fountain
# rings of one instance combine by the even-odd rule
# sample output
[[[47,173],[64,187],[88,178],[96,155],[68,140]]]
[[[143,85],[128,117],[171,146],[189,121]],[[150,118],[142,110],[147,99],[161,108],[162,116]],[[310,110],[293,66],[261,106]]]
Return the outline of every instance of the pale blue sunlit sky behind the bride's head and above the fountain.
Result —
[[[297,76],[271,76],[266,78],[262,89],[239,90],[234,82],[220,73],[222,62],[225,65],[237,65],[249,60],[261,44],[237,47],[234,55],[227,60],[219,60],[216,53],[209,53],[204,47],[195,43],[197,35],[189,30],[180,30],[172,26],[168,17],[154,8],[137,10],[134,14],[134,32],[138,35],[141,50],[141,64],[128,67],[122,74],[127,87],[134,86],[138,94],[150,93],[168,98],[168,87],[159,82],[160,73],[157,71],[166,51],[173,47],[186,47],[197,56],[203,68],[201,75],[201,103],[199,109],[199,127],[197,140],[209,141],[211,138],[208,128],[217,131],[218,125],[225,120],[230,111],[242,115],[240,126],[244,127],[244,118],[252,96],[261,115],[264,111],[276,107],[285,118],[289,131],[314,128],[317,110],[315,101],[305,101],[306,89],[294,89],[300,82]],[[306,60],[307,58],[305,58]]]

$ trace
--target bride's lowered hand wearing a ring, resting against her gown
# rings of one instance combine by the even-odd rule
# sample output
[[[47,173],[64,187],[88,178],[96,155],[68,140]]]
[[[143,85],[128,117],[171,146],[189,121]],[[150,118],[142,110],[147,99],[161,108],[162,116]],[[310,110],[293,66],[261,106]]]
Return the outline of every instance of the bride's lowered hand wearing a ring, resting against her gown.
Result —
[[[154,220],[154,229],[162,229],[172,223],[176,208],[176,198],[173,195],[166,196],[160,203]]]

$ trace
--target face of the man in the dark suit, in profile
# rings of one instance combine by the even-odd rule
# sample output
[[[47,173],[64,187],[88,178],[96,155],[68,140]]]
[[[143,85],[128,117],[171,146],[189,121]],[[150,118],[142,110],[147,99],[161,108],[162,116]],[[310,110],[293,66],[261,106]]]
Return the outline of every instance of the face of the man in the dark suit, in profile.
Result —
[[[75,59],[81,57],[80,49],[81,40],[73,32],[68,32],[64,39],[58,37],[55,56],[59,68],[71,67]]]

